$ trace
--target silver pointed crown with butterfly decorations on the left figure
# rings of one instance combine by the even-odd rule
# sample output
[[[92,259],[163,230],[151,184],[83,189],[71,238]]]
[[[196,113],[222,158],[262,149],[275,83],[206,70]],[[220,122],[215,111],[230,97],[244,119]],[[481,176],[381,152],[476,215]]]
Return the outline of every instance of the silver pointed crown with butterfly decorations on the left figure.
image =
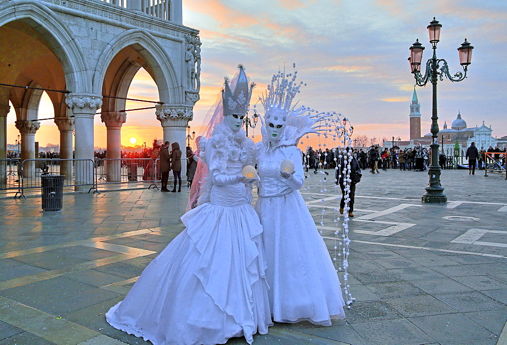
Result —
[[[234,87],[234,92],[229,85],[229,79],[225,78],[225,87],[222,90],[222,102],[224,104],[225,115],[240,115],[244,116],[250,105],[250,97],[255,83],[248,85],[248,78],[246,78],[245,67],[242,64],[238,65],[239,76]]]

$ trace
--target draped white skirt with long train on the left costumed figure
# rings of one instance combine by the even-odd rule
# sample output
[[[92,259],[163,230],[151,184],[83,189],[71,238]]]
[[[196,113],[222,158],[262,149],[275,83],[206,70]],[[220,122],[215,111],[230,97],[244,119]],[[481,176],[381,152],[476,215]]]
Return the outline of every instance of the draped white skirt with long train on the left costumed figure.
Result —
[[[225,343],[272,325],[262,227],[248,204],[205,203],[142,272],[107,322],[154,345]]]

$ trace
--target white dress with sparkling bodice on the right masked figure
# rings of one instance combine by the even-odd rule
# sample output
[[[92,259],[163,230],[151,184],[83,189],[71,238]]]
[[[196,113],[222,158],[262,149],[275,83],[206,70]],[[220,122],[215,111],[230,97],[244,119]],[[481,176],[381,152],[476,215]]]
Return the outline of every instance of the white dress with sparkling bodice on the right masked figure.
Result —
[[[273,320],[329,326],[332,319],[345,317],[345,303],[328,249],[298,190],[305,180],[302,153],[296,146],[268,150],[260,142],[256,159],[261,178],[256,211],[264,228]],[[285,159],[295,164],[292,179],[280,175]]]

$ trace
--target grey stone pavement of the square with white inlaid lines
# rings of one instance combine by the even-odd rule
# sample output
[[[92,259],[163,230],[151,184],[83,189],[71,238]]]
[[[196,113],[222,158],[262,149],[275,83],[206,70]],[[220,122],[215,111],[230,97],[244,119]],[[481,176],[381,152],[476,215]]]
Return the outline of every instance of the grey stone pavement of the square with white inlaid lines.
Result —
[[[309,174],[302,193],[316,223],[324,219],[333,253],[332,221],[343,216],[331,177],[320,192],[323,177]],[[428,205],[420,201],[424,172],[364,174],[349,222],[356,301],[346,319],[276,323],[254,343],[503,345],[507,181],[446,170],[442,183],[450,202]],[[149,344],[112,328],[104,314],[184,229],[187,198],[185,188],[73,194],[58,214],[40,213],[36,197],[0,200],[0,345]]]

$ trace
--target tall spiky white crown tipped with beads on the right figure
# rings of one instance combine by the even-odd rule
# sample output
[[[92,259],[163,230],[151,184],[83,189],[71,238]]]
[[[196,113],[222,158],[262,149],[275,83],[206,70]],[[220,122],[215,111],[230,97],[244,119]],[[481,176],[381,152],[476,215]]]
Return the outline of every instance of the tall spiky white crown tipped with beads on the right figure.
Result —
[[[296,68],[296,63],[293,63],[293,67]],[[300,92],[301,86],[303,86],[303,82],[296,83],[297,74],[298,71],[286,74],[284,66],[283,72],[278,71],[277,74],[273,75],[271,84],[268,85],[266,91],[266,97],[264,97],[264,94],[259,97],[265,110],[264,119],[266,121],[275,121],[277,124],[283,124],[287,121],[287,114],[291,110],[292,101],[296,94]],[[291,79],[289,80],[289,78]]]

